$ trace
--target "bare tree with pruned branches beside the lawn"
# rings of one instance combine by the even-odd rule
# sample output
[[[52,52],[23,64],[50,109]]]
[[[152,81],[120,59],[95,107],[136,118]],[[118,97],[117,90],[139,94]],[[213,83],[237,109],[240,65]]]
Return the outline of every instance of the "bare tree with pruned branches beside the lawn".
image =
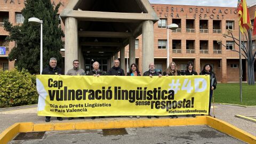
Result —
[[[222,36],[225,37],[225,38],[226,37],[233,38],[233,41],[235,42],[235,44],[239,46],[239,39],[235,38],[232,33],[233,33],[233,30],[228,29],[226,33],[222,34]],[[244,36],[245,36],[247,44],[244,41],[245,40]],[[222,44],[221,40],[218,40],[217,42],[218,42],[218,44]],[[243,57],[247,61],[247,75],[248,75],[247,83],[249,85],[255,85],[255,82],[254,82],[254,62],[255,62],[256,51],[255,51],[255,49],[254,50],[252,49],[251,29],[247,30],[247,34],[243,35],[243,41],[242,41],[241,44],[242,44],[241,45],[241,50],[242,50],[241,54],[243,55]],[[225,46],[226,49],[231,50],[226,45],[223,45],[223,46]],[[235,52],[239,53],[239,51],[236,51],[236,50],[231,50],[231,51],[235,51]]]

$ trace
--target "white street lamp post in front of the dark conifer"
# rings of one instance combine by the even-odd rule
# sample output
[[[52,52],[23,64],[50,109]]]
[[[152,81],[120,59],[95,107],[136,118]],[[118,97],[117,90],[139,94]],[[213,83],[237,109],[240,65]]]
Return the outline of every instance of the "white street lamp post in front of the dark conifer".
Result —
[[[40,37],[40,75],[43,71],[43,21],[38,18],[29,18],[28,22],[30,23],[41,23],[41,37]]]

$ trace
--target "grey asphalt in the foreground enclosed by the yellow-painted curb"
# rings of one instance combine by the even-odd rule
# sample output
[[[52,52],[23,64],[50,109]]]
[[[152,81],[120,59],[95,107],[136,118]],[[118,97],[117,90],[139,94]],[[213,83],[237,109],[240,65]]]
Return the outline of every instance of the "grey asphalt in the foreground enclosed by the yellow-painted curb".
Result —
[[[209,126],[168,126],[126,129],[127,134],[103,136],[102,130],[52,131],[40,140],[13,140],[11,144],[39,143],[244,143]]]

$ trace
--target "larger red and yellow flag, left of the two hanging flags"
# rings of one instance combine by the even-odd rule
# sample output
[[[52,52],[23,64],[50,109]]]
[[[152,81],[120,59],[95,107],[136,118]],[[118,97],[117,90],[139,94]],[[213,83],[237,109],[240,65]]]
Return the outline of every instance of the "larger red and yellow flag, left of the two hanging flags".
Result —
[[[250,15],[246,0],[238,0],[237,12],[239,16],[239,29],[244,33],[247,29],[252,28]]]

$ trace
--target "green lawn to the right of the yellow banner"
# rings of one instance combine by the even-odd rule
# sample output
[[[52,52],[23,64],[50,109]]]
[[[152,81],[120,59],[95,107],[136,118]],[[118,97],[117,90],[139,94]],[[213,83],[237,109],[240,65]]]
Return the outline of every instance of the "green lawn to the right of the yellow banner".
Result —
[[[240,102],[239,83],[217,84],[214,90],[214,102],[256,106],[256,85],[242,85],[242,102]]]

